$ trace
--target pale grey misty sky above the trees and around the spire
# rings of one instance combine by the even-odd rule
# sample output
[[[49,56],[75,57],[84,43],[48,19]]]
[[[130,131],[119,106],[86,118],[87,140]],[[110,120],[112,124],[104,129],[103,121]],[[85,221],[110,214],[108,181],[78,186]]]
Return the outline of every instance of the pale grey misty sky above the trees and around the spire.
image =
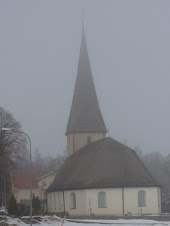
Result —
[[[0,0],[0,106],[62,154],[82,31],[109,136],[170,152],[169,0]]]

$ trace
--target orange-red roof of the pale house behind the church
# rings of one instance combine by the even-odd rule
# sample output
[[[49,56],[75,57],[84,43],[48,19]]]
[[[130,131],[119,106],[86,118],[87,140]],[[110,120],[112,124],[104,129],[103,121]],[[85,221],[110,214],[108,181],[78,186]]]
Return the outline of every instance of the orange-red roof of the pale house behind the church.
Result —
[[[32,171],[32,187],[38,187],[37,179],[42,175],[37,171]],[[29,173],[15,173],[12,174],[13,186],[17,188],[29,188],[30,187],[30,174]]]

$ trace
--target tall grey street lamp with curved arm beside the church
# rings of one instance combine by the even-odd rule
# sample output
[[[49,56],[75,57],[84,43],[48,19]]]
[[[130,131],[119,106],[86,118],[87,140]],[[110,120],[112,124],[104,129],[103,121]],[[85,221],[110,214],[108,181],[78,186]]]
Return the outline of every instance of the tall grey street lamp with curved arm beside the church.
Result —
[[[32,157],[31,157],[31,139],[28,136],[28,134],[26,134],[26,133],[24,133],[22,131],[13,130],[11,128],[1,128],[1,131],[11,131],[11,132],[14,132],[14,133],[24,134],[29,140],[29,144],[30,144],[30,225],[32,226]]]

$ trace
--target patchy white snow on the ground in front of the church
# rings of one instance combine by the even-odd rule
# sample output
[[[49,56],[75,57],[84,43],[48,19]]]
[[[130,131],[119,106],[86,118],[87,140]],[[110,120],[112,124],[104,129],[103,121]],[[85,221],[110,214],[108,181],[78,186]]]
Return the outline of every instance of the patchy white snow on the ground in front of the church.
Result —
[[[139,226],[139,225],[169,225],[170,221],[154,221],[154,220],[126,220],[126,219],[119,219],[119,220],[72,220],[73,222],[69,222],[69,220],[66,219],[63,226],[108,226],[108,225],[125,225],[125,226]],[[75,222],[76,221],[76,222]],[[18,226],[29,226],[29,224],[24,223],[20,219],[17,218],[11,218],[7,217],[6,220],[0,219],[0,225],[3,225],[3,223],[6,222],[9,225],[18,225]],[[42,217],[41,222],[33,224],[34,226],[61,226],[62,219],[58,217]]]

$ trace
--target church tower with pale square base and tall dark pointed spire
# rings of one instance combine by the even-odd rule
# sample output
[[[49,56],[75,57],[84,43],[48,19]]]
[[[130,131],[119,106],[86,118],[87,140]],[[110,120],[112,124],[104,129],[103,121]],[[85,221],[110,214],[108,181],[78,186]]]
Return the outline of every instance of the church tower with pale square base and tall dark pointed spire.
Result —
[[[106,137],[107,129],[100,111],[88,57],[84,28],[77,78],[67,124],[67,155],[88,143]]]

